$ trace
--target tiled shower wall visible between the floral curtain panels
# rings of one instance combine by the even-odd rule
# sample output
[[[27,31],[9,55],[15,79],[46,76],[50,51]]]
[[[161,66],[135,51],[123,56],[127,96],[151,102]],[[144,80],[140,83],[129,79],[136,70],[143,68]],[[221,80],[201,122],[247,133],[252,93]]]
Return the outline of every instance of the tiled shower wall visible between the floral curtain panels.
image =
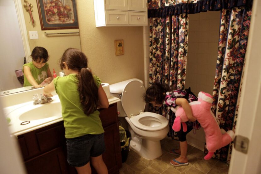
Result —
[[[212,94],[219,41],[219,11],[189,15],[185,88]]]

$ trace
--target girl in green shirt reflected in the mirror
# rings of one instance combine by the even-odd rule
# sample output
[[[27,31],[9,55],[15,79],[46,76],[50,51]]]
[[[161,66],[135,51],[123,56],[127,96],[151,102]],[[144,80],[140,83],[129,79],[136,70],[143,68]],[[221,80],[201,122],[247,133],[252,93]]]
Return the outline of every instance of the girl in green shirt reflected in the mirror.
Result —
[[[49,69],[49,64],[46,63],[49,59],[47,50],[36,46],[32,51],[31,57],[32,62],[23,66],[24,87],[34,86],[35,88],[40,88],[44,84],[49,84],[53,80],[53,76]]]

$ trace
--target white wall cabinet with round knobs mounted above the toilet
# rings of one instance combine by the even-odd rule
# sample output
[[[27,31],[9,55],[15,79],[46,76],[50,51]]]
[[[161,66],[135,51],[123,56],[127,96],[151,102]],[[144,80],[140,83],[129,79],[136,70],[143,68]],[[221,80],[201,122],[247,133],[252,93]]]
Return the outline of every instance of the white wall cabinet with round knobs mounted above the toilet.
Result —
[[[147,25],[147,0],[94,0],[96,27]]]

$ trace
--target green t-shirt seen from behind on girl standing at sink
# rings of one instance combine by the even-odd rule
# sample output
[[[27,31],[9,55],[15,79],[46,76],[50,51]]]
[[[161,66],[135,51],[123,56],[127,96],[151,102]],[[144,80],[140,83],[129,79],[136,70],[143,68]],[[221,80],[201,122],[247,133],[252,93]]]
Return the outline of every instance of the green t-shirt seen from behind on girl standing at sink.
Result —
[[[101,80],[93,76],[97,87]],[[64,120],[65,138],[75,138],[86,134],[103,133],[103,126],[98,110],[86,115],[80,102],[78,79],[76,74],[69,74],[65,77],[56,77],[54,80],[55,91],[59,96],[62,105],[62,116]]]

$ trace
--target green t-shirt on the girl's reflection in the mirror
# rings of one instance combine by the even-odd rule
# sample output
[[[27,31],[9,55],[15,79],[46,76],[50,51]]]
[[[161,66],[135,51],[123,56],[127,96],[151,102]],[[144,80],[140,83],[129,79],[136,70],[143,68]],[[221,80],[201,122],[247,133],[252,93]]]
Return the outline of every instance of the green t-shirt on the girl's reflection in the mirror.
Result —
[[[23,65],[23,69],[22,69],[23,72],[24,72],[24,66],[30,67],[32,76],[35,79],[37,84],[41,84],[44,81],[44,79],[46,79],[48,77],[48,73],[47,73],[47,70],[48,70],[48,67],[49,67],[48,63],[46,63],[40,69],[36,68],[32,62],[26,63],[26,64]],[[26,78],[25,74],[24,74],[24,81],[25,81],[24,82],[24,87],[25,86],[32,86],[32,84],[30,84],[28,79]]]

